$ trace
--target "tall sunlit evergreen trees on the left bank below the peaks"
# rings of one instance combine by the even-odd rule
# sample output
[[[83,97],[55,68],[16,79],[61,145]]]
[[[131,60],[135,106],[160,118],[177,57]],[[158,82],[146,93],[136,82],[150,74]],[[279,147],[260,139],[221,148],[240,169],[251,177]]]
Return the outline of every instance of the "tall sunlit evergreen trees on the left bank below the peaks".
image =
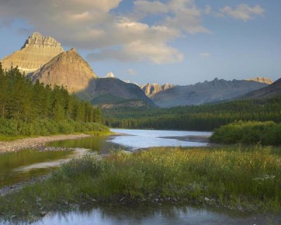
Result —
[[[79,101],[65,87],[32,84],[18,68],[4,70],[0,63],[0,134],[70,133],[96,129],[93,123],[101,120],[100,108]]]

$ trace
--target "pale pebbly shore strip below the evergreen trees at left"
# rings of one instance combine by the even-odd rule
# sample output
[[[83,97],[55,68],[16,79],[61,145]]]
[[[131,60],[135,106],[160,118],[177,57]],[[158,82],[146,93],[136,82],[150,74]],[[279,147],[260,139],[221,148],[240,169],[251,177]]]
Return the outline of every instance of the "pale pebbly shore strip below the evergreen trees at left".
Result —
[[[37,148],[38,150],[57,150],[46,146],[50,141],[60,141],[67,139],[81,139],[91,136],[89,134],[68,134],[57,136],[39,136],[36,138],[20,139],[16,141],[0,141],[0,154],[14,152],[25,148]]]

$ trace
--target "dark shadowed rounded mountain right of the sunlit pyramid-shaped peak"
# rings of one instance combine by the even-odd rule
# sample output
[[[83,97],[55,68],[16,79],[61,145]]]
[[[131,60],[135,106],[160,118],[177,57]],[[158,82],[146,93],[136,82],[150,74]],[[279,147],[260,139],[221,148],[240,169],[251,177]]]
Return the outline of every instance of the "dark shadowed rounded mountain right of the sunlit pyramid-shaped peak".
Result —
[[[136,84],[112,77],[91,80],[77,96],[103,108],[156,106]]]

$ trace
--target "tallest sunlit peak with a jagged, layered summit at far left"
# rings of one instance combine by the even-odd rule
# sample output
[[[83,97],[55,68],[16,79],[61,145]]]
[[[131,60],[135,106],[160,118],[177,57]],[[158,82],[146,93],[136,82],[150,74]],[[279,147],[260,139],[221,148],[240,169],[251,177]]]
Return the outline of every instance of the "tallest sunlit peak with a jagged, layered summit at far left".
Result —
[[[33,33],[19,51],[15,51],[10,56],[1,60],[4,69],[18,66],[25,72],[34,72],[48,63],[53,57],[63,52],[63,47],[60,42],[53,37],[44,37],[40,33]]]

